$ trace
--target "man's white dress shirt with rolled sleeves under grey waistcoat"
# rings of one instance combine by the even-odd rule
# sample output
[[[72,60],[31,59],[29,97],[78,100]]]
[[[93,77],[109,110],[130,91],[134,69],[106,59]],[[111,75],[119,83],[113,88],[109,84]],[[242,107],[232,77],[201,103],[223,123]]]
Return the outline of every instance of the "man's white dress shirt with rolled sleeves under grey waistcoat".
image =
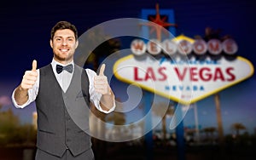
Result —
[[[68,63],[67,65],[69,64],[73,64],[73,67],[74,67],[74,63],[73,61],[71,61],[70,63]],[[61,86],[61,89],[64,91],[64,93],[66,93],[67,91],[67,88],[69,86],[69,84],[71,83],[71,79],[73,77],[73,72],[70,73],[66,70],[63,70],[61,71],[60,74],[58,74],[55,70],[56,68],[56,65],[61,65],[63,66],[61,63],[55,61],[54,59],[52,60],[51,62],[51,66],[52,66],[52,69],[54,71],[54,74],[55,74],[55,77],[58,81],[58,83],[60,84]],[[37,69],[38,71],[38,79],[36,81],[36,83],[34,84],[34,86],[32,87],[32,89],[28,89],[28,100],[26,101],[25,104],[23,105],[18,105],[15,101],[15,92],[13,92],[12,94],[12,100],[13,100],[13,103],[15,105],[16,108],[24,108],[26,106],[28,106],[29,104],[32,103],[32,101],[36,100],[37,98],[37,95],[38,95],[38,89],[39,89],[39,69]],[[96,76],[96,72],[95,71],[92,71],[90,69],[85,69],[87,75],[88,75],[88,78],[89,78],[89,94],[90,94],[90,101],[92,103],[94,103],[94,105],[96,106],[96,108],[99,110],[99,111],[102,111],[104,113],[109,113],[111,111],[114,110],[115,106],[113,106],[109,111],[104,111],[102,110],[102,107],[100,106],[100,100],[101,100],[101,97],[102,97],[102,94],[98,94],[94,88],[94,77]]]

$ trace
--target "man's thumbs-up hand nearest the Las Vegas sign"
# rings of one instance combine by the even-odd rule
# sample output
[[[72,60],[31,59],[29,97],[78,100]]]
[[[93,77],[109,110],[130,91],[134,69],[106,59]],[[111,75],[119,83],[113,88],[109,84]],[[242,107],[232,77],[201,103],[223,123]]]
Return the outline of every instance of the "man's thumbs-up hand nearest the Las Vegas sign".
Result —
[[[96,92],[100,94],[111,94],[110,87],[108,85],[108,78],[104,75],[105,64],[102,64],[100,73],[94,77],[94,87]]]

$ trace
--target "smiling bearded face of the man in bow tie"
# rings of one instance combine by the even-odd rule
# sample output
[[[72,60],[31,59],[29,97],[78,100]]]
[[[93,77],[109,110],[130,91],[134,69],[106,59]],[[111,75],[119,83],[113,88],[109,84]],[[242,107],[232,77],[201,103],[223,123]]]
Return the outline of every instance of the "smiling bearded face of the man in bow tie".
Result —
[[[54,59],[62,64],[67,64],[73,60],[78,41],[76,41],[72,30],[58,30],[55,32],[53,40],[50,40],[50,46],[53,49]]]

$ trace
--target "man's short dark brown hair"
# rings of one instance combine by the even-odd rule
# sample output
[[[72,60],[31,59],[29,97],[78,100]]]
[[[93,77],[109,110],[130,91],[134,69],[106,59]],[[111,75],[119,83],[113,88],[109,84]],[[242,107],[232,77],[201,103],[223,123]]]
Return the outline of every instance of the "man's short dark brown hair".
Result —
[[[56,31],[65,29],[70,29],[71,31],[73,31],[75,39],[78,39],[78,30],[76,26],[74,26],[68,21],[59,21],[58,23],[56,23],[56,25],[50,31],[50,39],[53,40]]]

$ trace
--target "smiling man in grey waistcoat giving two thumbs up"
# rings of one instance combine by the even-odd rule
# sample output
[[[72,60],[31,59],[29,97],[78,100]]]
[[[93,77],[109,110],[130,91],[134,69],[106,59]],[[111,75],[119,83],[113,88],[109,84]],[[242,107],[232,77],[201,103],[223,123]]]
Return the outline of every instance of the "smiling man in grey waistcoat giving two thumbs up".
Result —
[[[73,62],[78,47],[78,31],[67,21],[58,22],[51,30],[53,60],[48,66],[26,71],[14,90],[17,108],[36,101],[38,139],[36,160],[94,159],[89,130],[89,106],[105,113],[113,111],[114,95],[104,76]]]

